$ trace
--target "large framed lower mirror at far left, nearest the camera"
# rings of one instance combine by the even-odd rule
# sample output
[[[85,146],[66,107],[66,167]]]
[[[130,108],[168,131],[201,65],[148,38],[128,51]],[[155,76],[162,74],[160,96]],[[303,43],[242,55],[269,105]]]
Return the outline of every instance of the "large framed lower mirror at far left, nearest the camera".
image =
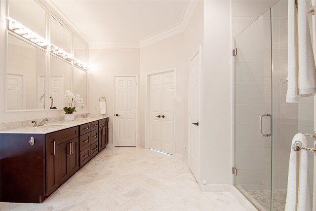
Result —
[[[45,52],[8,34],[6,110],[45,108]]]

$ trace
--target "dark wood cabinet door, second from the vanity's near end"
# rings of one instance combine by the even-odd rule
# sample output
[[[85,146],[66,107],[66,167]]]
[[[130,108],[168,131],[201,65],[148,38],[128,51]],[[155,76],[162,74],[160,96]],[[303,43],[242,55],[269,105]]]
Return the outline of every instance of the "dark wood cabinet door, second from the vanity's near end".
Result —
[[[71,153],[70,142],[58,144],[58,183],[62,184],[69,178],[69,154]]]

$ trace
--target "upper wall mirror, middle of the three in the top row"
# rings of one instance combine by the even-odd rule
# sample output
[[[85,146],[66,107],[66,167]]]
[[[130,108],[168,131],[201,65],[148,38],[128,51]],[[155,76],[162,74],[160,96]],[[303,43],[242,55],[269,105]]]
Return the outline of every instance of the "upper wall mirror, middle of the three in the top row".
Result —
[[[53,16],[50,16],[50,42],[71,54],[71,33]]]

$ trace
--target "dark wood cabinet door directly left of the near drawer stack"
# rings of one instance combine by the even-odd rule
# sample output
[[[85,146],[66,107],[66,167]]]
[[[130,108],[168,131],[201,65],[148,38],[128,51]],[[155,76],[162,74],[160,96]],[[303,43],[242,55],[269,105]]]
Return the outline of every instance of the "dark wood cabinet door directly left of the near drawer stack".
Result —
[[[75,174],[79,169],[79,139],[78,137],[69,141],[70,143],[70,154],[69,156],[69,176]]]

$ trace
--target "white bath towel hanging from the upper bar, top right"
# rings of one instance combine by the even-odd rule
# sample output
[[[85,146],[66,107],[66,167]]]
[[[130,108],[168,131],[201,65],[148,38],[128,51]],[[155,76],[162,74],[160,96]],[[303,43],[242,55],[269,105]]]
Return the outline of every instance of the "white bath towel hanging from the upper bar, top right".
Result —
[[[288,84],[287,103],[316,93],[316,68],[305,0],[288,1]],[[297,18],[298,17],[298,18]]]

